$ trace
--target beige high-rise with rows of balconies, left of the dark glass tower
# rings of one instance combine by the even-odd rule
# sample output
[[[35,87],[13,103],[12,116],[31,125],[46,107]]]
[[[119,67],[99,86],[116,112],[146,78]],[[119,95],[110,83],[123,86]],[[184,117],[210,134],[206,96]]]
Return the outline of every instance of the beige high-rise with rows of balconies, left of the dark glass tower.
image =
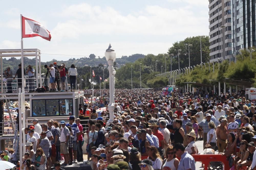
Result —
[[[209,0],[210,61],[232,55],[231,14],[231,0]]]

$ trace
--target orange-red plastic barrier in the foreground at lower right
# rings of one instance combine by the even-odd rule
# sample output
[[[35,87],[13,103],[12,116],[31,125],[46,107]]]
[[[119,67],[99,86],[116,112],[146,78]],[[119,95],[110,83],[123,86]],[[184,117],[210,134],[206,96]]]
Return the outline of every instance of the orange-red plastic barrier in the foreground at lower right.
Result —
[[[208,164],[210,162],[222,162],[224,164],[224,170],[229,170],[229,162],[227,161],[227,157],[221,154],[210,154],[210,155],[192,155],[195,161],[201,161],[205,166],[205,170],[208,169]]]

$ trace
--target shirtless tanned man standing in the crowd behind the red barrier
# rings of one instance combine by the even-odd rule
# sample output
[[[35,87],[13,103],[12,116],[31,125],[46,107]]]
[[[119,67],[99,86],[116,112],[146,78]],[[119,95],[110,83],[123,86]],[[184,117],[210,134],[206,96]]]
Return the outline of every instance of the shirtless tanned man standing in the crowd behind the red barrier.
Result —
[[[228,144],[228,134],[227,134],[227,119],[222,119],[220,124],[216,128],[217,135],[217,145],[219,153],[224,151]]]

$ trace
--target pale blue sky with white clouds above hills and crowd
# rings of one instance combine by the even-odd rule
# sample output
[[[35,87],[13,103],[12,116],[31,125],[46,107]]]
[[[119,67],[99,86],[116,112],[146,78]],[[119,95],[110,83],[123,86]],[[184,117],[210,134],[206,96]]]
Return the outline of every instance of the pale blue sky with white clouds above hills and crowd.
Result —
[[[0,48],[20,48],[23,14],[51,32],[50,42],[40,37],[23,40],[24,49],[41,50],[42,61],[81,58],[47,54],[104,56],[109,43],[117,56],[157,55],[176,41],[209,33],[207,0],[31,2],[0,0]]]

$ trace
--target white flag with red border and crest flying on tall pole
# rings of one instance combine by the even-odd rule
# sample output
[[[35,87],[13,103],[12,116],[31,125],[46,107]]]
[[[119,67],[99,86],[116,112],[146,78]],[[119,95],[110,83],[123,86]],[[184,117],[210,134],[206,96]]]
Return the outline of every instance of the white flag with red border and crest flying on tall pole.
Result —
[[[40,36],[48,41],[51,40],[50,32],[40,22],[22,17],[22,38]]]

